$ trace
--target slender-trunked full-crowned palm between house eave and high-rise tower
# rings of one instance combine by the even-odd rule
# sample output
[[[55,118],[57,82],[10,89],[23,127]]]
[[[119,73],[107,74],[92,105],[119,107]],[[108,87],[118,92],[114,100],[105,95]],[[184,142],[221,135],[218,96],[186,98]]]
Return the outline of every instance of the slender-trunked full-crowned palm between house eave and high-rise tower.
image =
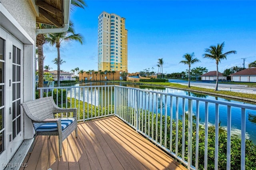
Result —
[[[51,33],[47,34],[47,37],[45,37],[45,41],[47,43],[50,43],[52,46],[56,45],[57,53],[58,53],[58,60],[60,61],[60,43],[62,41],[69,42],[71,40],[75,40],[83,44],[83,37],[80,34],[75,34],[73,29],[73,23],[69,23],[69,28],[67,32],[62,33]],[[57,85],[60,87],[60,63],[57,63],[58,65],[58,78],[57,78]]]

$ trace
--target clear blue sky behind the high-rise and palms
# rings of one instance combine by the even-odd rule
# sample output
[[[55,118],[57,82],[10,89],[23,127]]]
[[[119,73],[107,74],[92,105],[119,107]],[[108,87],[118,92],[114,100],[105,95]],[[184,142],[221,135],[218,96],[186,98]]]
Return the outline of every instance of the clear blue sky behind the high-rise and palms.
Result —
[[[76,67],[98,70],[98,15],[102,11],[126,18],[128,30],[128,71],[142,71],[156,66],[163,58],[163,72],[188,69],[179,63],[186,53],[195,53],[200,63],[194,67],[216,70],[213,60],[204,59],[204,49],[225,42],[224,51],[236,50],[219,63],[219,71],[233,66],[245,67],[256,60],[256,1],[146,1],[146,0],[87,0],[85,10],[76,8],[70,14],[75,32],[84,36],[84,43],[64,42],[60,56],[66,61],[64,71]],[[56,70],[52,60],[57,49],[44,45],[44,65]]]

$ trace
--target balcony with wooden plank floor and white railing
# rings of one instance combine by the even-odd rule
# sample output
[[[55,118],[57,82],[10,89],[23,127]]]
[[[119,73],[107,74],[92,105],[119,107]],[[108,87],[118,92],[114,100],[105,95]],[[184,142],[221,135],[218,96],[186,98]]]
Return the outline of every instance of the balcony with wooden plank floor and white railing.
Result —
[[[59,107],[78,108],[80,123],[78,138],[72,134],[64,141],[61,158],[58,158],[57,138],[37,137],[31,155],[25,159],[28,165],[33,165],[32,169],[62,169],[66,165],[70,169],[184,169],[185,166],[192,170],[212,167],[244,170],[247,161],[253,159],[247,156],[253,147],[246,125],[250,121],[248,113],[256,113],[255,105],[118,85],[38,89],[46,91],[45,96],[53,96]],[[58,90],[54,94],[50,89]],[[221,127],[224,121],[220,121],[223,115],[225,128]],[[240,120],[236,135],[233,134],[235,115]],[[235,141],[238,150],[231,147]],[[234,151],[238,157],[232,155]]]

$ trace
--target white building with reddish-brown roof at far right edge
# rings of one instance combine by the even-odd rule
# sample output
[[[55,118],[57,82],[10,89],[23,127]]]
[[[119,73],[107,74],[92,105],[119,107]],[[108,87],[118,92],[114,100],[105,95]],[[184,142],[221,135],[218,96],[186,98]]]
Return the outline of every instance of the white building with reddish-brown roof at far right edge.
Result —
[[[256,68],[249,68],[230,74],[231,81],[256,82]]]

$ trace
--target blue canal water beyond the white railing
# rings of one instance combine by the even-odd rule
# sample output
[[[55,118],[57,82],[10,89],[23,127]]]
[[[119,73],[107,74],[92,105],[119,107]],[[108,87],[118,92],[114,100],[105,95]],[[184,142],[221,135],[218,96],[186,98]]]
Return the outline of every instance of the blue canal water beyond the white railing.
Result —
[[[234,103],[244,103],[241,100],[236,99],[230,99],[230,98],[223,98],[223,97],[216,97],[211,95],[206,95],[202,93],[192,93],[189,91],[183,91],[178,89],[172,89],[172,88],[165,88],[165,87],[152,87],[152,86],[146,86],[146,85],[134,85],[130,83],[107,83],[107,82],[100,82],[100,83],[80,83],[76,84],[74,86],[91,86],[91,85],[121,85],[125,87],[134,87],[138,89],[146,89],[146,90],[152,90],[152,91],[158,91],[158,92],[164,92],[164,93],[172,93],[176,95],[186,95],[186,96],[193,96],[193,97],[200,97],[204,99],[213,99],[213,100],[219,100],[219,101],[229,101]],[[82,97],[81,97],[82,98]],[[81,99],[80,98],[80,99]],[[160,102],[160,101],[158,101]],[[187,101],[186,101],[187,102]],[[168,104],[170,104],[170,101],[167,101]],[[173,103],[176,103],[176,98],[173,98]],[[255,105],[255,103],[246,103],[250,105]],[[169,107],[170,105],[164,106],[162,108],[162,113],[165,112],[165,107]],[[200,123],[204,124],[204,103],[200,103],[200,114],[199,114],[199,120]],[[187,105],[185,107],[185,110],[187,111]],[[209,124],[214,125],[215,124],[215,105],[209,104]],[[175,117],[175,111],[176,107],[173,107],[173,119],[176,119]],[[232,135],[234,136],[241,136],[241,109],[232,107],[232,116],[231,116],[231,127],[232,127]],[[158,108],[158,113],[160,113],[160,108]],[[193,102],[193,113],[196,113],[196,103]],[[220,105],[219,107],[219,123],[220,127],[224,130],[226,130],[227,127],[227,107]],[[170,109],[167,109],[167,115],[170,115]],[[194,114],[195,115],[195,114]],[[179,100],[179,119],[182,119],[182,100]],[[195,116],[194,116],[195,119]],[[250,139],[256,144],[256,111],[253,110],[246,110],[246,138]]]

